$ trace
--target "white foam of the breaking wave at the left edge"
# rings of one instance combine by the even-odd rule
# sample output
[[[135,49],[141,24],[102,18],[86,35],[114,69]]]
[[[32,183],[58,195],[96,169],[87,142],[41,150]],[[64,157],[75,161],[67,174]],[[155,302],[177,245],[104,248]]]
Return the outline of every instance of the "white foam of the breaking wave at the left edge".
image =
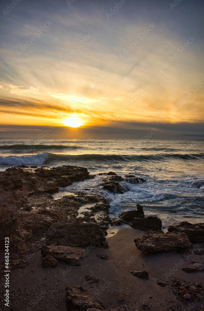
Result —
[[[40,153],[29,156],[0,156],[0,165],[41,165],[48,160],[48,153]]]

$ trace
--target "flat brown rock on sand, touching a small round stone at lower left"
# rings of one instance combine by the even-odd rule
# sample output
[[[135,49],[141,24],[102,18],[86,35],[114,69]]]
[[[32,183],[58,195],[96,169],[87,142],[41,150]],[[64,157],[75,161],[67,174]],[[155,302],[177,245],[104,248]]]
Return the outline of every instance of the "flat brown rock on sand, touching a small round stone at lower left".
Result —
[[[50,255],[59,261],[66,261],[69,265],[80,266],[80,259],[86,256],[86,251],[79,247],[70,246],[43,246],[41,248],[43,256]]]

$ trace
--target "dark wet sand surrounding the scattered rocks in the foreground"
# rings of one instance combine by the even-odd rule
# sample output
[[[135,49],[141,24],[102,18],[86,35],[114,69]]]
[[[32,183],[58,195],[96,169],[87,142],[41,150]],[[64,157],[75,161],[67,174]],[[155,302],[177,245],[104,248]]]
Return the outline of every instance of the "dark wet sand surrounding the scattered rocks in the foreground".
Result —
[[[143,254],[137,250],[134,239],[145,235],[145,231],[127,226],[110,228],[108,249],[86,247],[87,257],[81,259],[81,266],[69,266],[59,262],[54,268],[42,267],[40,251],[32,254],[30,264],[14,269],[11,275],[10,307],[7,311],[67,311],[66,286],[80,285],[88,290],[92,299],[104,308],[126,304],[135,310],[169,311],[199,310],[203,301],[189,304],[178,300],[170,285],[161,287],[157,281],[170,283],[172,277],[204,283],[204,272],[186,273],[182,267],[192,265],[192,260],[204,262],[204,255],[161,253]],[[115,232],[111,234],[111,232]],[[198,244],[194,244],[197,248]],[[199,244],[203,247],[203,244]],[[97,257],[108,256],[108,260]],[[145,270],[149,280],[133,276],[131,270]],[[100,279],[98,286],[91,287],[85,276],[89,274]]]

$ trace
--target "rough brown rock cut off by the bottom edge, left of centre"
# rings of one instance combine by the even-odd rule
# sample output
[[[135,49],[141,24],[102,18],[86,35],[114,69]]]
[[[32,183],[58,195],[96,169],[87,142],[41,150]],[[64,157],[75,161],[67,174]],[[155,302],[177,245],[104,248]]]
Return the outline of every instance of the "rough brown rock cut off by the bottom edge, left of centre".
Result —
[[[99,310],[104,310],[104,308],[95,300],[91,299],[91,297],[87,294],[87,290],[85,290],[81,286],[67,286],[67,299],[66,306],[68,311],[76,311],[76,310],[87,310],[90,308],[96,308]]]

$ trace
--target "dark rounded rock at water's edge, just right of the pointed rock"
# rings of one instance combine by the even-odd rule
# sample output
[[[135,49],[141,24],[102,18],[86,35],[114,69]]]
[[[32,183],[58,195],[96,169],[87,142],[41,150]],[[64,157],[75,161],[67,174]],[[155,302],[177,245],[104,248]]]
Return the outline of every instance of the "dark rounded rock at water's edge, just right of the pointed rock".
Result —
[[[162,227],[162,221],[158,217],[153,216],[133,218],[131,227],[139,230],[159,231]]]

